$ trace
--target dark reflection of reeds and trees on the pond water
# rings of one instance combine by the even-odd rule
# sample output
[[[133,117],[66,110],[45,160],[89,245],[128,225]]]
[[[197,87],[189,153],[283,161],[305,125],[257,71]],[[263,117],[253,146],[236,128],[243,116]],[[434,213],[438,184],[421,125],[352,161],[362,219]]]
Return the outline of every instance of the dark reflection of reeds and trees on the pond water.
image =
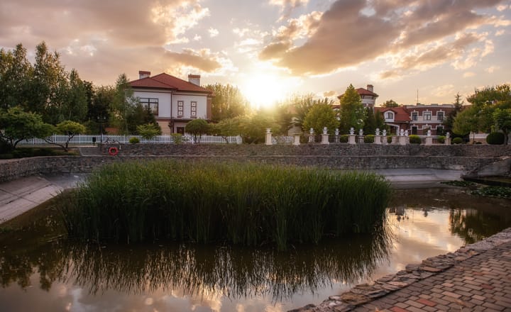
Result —
[[[26,246],[19,246],[20,250],[2,253],[1,284],[16,282],[25,288],[36,270],[45,290],[58,280],[77,284],[89,294],[180,289],[185,296],[268,296],[278,302],[300,291],[314,293],[332,281],[366,278],[388,257],[388,233],[381,229],[375,233],[300,246],[292,252],[202,245],[99,247],[57,240],[31,252],[22,252]]]

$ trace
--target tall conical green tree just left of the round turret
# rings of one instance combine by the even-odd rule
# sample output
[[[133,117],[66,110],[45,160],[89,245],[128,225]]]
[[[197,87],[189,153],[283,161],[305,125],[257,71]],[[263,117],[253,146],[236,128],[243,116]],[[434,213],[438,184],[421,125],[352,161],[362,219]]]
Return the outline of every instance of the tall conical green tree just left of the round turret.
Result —
[[[364,117],[362,99],[350,84],[341,96],[341,133],[348,133],[350,128],[362,128]]]

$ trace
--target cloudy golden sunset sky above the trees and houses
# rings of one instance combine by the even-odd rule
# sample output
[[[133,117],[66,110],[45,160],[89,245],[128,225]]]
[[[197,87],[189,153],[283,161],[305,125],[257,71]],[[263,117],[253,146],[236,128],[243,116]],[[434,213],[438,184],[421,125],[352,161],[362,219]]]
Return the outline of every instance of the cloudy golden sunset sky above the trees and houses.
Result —
[[[2,0],[0,48],[45,41],[95,85],[167,72],[255,106],[373,84],[378,104],[449,104],[511,82],[511,0]]]

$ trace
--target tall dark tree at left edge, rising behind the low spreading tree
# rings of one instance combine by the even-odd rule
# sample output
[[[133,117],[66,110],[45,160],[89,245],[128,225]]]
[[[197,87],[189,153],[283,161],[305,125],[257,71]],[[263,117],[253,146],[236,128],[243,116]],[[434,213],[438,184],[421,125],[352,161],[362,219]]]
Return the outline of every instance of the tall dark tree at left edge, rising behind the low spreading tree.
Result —
[[[13,51],[0,49],[0,108],[27,106],[32,74],[21,43]]]

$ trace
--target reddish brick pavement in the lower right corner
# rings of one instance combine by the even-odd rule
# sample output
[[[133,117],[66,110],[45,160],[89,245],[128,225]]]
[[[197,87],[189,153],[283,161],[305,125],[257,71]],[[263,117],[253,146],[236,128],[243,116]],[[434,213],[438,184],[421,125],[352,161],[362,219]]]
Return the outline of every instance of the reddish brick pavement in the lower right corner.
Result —
[[[351,311],[511,311],[511,243]]]

